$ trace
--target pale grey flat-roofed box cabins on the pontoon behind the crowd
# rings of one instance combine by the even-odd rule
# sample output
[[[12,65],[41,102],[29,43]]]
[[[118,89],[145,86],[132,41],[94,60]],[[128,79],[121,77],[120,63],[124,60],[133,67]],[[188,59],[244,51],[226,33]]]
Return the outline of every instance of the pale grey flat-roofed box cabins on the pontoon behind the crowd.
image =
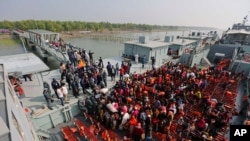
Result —
[[[161,65],[164,60],[170,59],[171,56],[179,57],[184,52],[189,51],[197,45],[196,40],[179,39],[174,36],[165,36],[164,40],[151,41],[145,36],[140,36],[139,41],[128,41],[124,43],[123,57],[135,59],[139,55],[139,62],[145,55],[145,61],[150,62],[154,57],[156,65]]]

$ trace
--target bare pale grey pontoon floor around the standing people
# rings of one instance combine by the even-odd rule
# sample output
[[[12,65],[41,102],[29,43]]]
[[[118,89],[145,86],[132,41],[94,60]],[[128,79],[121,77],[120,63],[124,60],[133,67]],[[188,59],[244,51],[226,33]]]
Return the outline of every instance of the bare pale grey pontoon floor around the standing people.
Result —
[[[107,62],[110,62],[111,64],[115,65],[117,62],[119,65],[123,59],[121,57],[114,57],[114,58],[108,58],[108,59],[103,59],[103,63],[106,66]],[[145,68],[141,68],[141,64],[132,64],[131,67],[131,72],[137,72],[137,73],[142,73],[145,72],[147,69],[150,69],[151,65],[146,64]],[[59,66],[58,66],[59,68]],[[46,71],[43,73],[36,73],[33,74],[32,79],[33,81],[24,81],[23,78],[20,78],[22,81],[22,86],[25,91],[25,97],[21,99],[23,106],[28,107],[29,109],[41,109],[43,108],[44,105],[46,105],[44,96],[42,94],[43,91],[43,82],[48,82],[49,84],[51,83],[52,79],[55,78],[56,80],[60,81],[60,73],[59,69],[58,70],[51,70],[51,71]],[[118,80],[119,77],[116,77],[116,80]],[[111,78],[108,77],[107,80],[107,85],[108,88],[111,88],[114,85],[114,82],[111,82]],[[80,92],[81,94],[82,92]],[[52,91],[52,94],[54,94],[54,91]],[[83,94],[81,96],[84,96]],[[73,95],[71,94],[71,91],[69,91],[69,98],[70,98],[70,104],[71,103],[76,103],[78,99],[74,98]],[[54,109],[60,109],[62,106],[59,104],[59,100],[56,100],[55,103],[53,104]]]

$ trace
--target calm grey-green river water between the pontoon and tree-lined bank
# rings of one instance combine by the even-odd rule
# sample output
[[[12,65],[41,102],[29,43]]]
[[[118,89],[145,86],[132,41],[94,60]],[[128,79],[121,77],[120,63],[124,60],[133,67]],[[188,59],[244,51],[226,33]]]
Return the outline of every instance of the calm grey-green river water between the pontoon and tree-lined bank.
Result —
[[[207,33],[208,31],[204,31]],[[139,36],[147,36],[150,40],[152,39],[163,39],[166,35],[181,36],[188,35],[189,31],[169,31],[169,32],[144,32],[144,33],[123,33],[116,36],[119,37],[132,37],[138,39]],[[104,41],[86,38],[68,38],[64,39],[65,42],[69,42],[74,46],[84,48],[87,52],[89,50],[94,52],[94,59],[109,58],[114,56],[121,56],[124,50],[124,44],[119,41]],[[27,47],[27,52],[33,52],[39,56],[39,53],[31,48]],[[14,55],[25,53],[25,49],[20,41],[15,41],[13,39],[0,39],[0,56],[4,55]],[[48,58],[47,65],[51,70],[57,69],[59,67],[58,61],[56,61],[52,56]]]

